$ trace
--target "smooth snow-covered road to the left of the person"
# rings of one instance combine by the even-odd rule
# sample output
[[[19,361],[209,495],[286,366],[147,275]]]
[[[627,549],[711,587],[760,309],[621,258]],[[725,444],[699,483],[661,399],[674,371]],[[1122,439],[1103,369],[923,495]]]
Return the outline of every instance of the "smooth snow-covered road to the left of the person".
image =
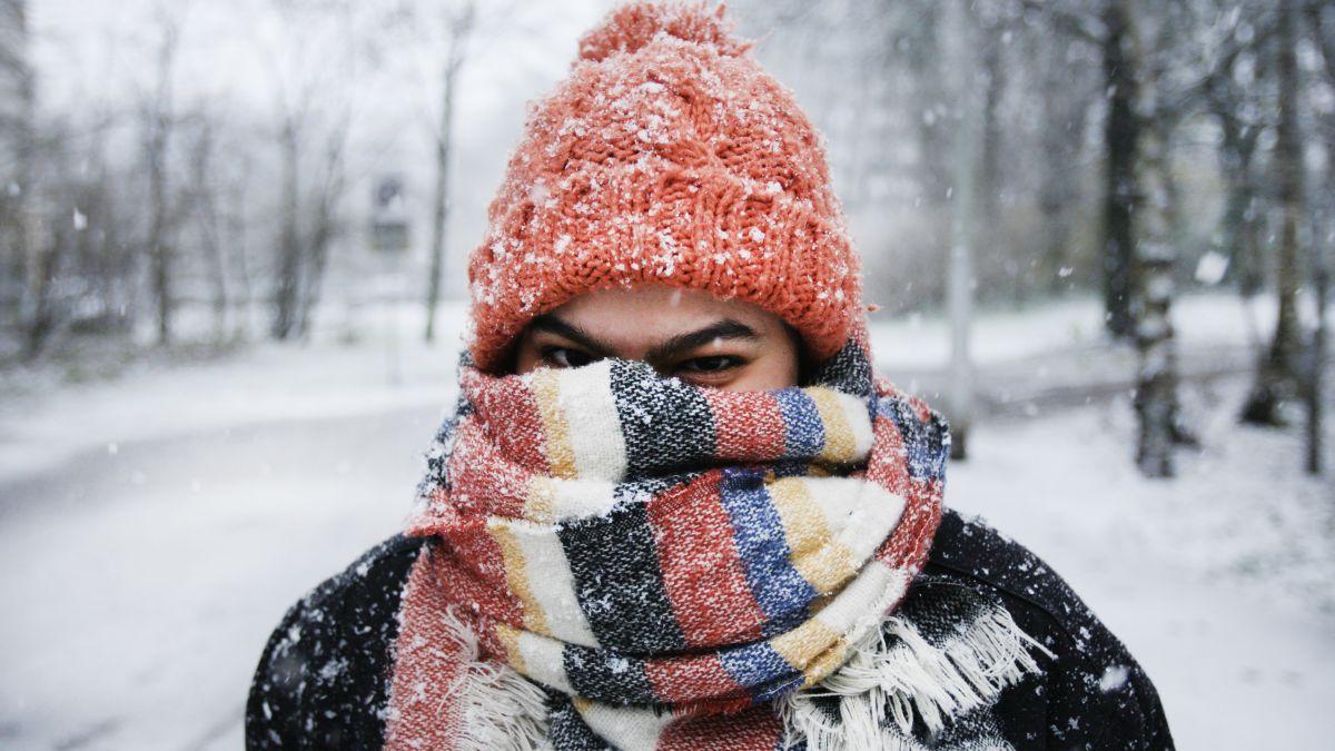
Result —
[[[0,747],[238,748],[270,629],[394,533],[435,414],[135,442],[0,486]]]

